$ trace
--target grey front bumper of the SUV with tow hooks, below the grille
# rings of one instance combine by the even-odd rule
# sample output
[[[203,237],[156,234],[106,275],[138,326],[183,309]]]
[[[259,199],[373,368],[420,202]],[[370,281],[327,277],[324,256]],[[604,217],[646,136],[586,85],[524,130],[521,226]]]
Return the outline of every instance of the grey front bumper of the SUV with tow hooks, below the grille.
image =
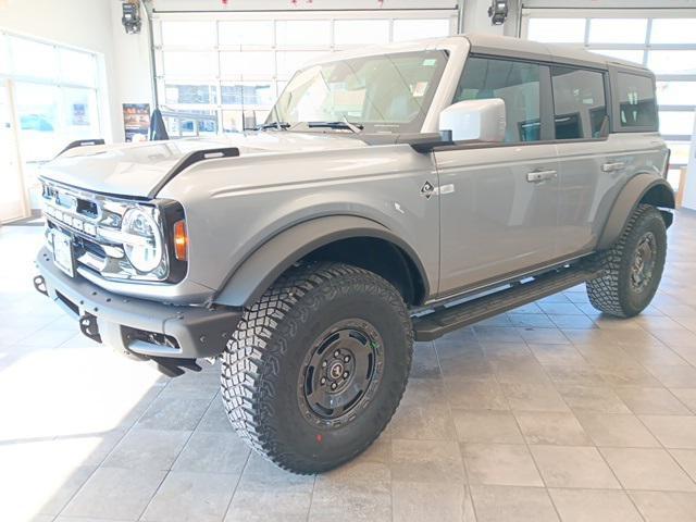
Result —
[[[79,275],[64,274],[46,248],[36,265],[48,297],[75,319],[92,322],[89,333],[83,328],[86,335],[128,355],[154,360],[215,357],[241,319],[239,309],[164,304],[105,291]]]

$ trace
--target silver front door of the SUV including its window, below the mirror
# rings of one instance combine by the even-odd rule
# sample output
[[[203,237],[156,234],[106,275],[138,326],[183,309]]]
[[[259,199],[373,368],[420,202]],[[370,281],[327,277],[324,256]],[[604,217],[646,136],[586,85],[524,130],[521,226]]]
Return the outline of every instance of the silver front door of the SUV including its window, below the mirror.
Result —
[[[442,296],[555,260],[559,167],[548,136],[549,90],[546,65],[486,57],[467,60],[453,102],[502,99],[506,142],[435,152]]]

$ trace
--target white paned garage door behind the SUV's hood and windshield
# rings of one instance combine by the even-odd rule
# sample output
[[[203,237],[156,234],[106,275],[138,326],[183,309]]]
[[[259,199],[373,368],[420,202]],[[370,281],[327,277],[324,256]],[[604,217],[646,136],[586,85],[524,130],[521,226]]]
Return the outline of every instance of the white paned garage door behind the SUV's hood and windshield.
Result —
[[[316,55],[456,30],[456,9],[158,14],[160,104],[198,116],[169,119],[174,136],[238,132],[245,120],[263,122],[293,73]]]

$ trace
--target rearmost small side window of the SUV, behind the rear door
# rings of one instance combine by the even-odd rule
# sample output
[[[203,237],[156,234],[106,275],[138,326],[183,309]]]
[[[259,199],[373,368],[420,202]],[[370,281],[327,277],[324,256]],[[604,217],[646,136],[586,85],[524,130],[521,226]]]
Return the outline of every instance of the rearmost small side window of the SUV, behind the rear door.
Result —
[[[657,102],[652,79],[647,76],[619,73],[619,119],[624,128],[649,127],[657,130]]]

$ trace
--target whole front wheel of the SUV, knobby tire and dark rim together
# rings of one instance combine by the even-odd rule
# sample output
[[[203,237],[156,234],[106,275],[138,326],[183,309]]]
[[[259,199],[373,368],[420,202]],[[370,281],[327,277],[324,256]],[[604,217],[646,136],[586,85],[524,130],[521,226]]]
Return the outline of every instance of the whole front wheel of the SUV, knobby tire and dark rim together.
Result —
[[[315,263],[284,275],[223,355],[222,395],[237,434],[295,473],[352,459],[385,428],[406,387],[413,334],[378,275]]]

